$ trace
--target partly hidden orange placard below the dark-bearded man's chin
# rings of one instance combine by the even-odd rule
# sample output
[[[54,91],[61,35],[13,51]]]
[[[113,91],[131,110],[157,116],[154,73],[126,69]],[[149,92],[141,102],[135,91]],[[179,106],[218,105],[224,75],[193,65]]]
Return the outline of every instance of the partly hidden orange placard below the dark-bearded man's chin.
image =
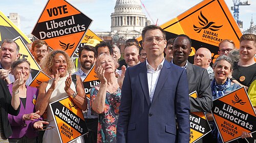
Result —
[[[95,70],[95,66],[92,67],[91,71],[88,73],[86,78],[83,80],[83,87],[86,91],[86,97],[90,100],[90,91],[91,88],[98,85],[100,83],[99,78],[97,77]]]

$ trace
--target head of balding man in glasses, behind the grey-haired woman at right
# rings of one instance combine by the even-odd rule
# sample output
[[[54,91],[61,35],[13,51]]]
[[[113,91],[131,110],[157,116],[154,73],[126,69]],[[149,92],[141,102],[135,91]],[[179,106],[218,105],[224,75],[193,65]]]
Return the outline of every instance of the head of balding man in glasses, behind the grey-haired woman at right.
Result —
[[[228,52],[235,48],[234,42],[232,40],[224,39],[219,43],[219,55],[225,54],[228,56]]]

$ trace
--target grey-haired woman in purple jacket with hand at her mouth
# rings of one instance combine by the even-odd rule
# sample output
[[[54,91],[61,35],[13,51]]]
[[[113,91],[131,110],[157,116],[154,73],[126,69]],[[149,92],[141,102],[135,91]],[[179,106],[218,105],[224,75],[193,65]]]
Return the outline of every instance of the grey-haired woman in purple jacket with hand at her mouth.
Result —
[[[15,81],[8,84],[12,96],[20,99],[20,111],[18,116],[8,115],[13,134],[9,137],[9,142],[36,142],[37,132],[35,129],[42,129],[48,122],[38,120],[39,111],[35,111],[35,102],[38,90],[26,85],[30,74],[30,63],[25,59],[20,59],[12,63],[11,74]]]

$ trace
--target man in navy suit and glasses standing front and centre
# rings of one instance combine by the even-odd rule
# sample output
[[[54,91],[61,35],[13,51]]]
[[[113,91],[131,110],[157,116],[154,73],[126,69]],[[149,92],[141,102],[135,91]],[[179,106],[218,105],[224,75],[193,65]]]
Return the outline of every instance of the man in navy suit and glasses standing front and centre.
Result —
[[[161,27],[144,27],[142,39],[147,59],[125,72],[117,142],[189,142],[186,70],[164,59]]]

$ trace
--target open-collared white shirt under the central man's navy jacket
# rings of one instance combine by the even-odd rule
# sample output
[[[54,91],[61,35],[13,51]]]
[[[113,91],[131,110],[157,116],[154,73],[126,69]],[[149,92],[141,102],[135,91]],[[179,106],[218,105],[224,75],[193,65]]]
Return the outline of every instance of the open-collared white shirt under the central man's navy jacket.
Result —
[[[154,93],[157,86],[157,81],[161,72],[161,69],[163,67],[164,58],[163,61],[158,65],[157,70],[152,68],[150,64],[148,64],[146,60],[146,68],[147,68],[147,84],[148,84],[148,91],[150,92],[150,102],[152,102],[152,99],[154,97]]]

